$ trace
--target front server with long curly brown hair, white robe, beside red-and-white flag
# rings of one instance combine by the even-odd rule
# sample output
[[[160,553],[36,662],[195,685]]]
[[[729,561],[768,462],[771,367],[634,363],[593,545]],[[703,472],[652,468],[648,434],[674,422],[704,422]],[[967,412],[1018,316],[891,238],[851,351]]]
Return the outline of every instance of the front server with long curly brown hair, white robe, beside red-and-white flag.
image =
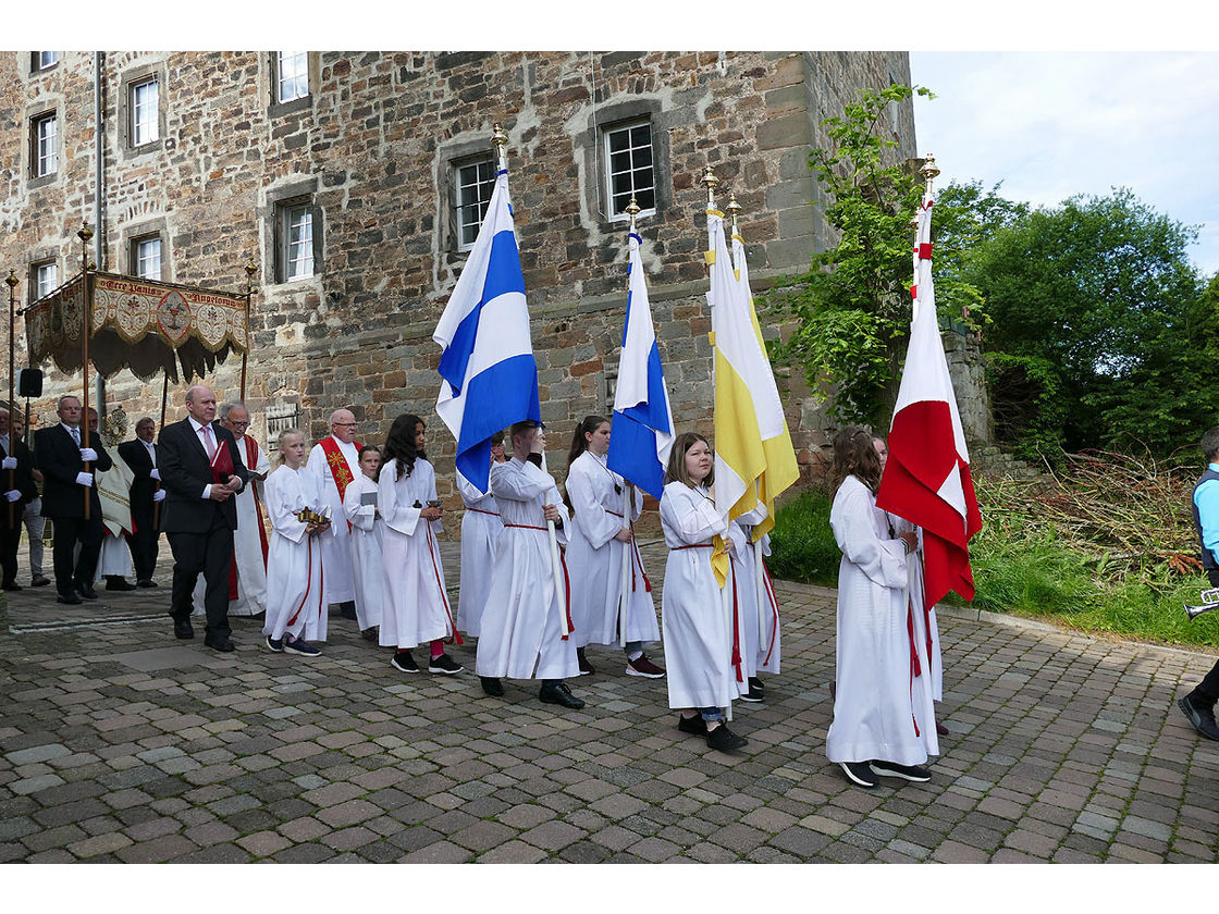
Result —
[[[879,778],[928,781],[923,768],[939,754],[925,652],[911,636],[904,598],[907,556],[918,539],[889,536],[875,509],[880,458],[872,435],[850,427],[834,440],[830,526],[842,550],[839,565],[834,720],[825,754],[847,779],[874,787]]]

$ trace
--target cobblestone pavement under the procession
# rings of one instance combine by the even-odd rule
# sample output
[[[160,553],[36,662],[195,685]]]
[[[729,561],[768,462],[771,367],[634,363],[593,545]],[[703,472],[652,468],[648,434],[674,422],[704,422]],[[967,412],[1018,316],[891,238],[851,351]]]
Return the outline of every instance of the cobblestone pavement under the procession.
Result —
[[[659,578],[663,548],[646,552]],[[261,648],[252,619],[218,654],[201,626],[173,639],[168,570],[163,550],[158,590],[83,607],[9,595],[0,860],[1217,857],[1219,743],[1174,704],[1206,654],[953,612],[931,782],[863,791],[824,757],[833,590],[777,583],[784,671],[735,708],[750,745],[725,756],[610,648],[572,682],[580,712],[525,682],[484,697],[469,645],[451,648],[466,673],[403,675],[336,617],[313,661]]]

